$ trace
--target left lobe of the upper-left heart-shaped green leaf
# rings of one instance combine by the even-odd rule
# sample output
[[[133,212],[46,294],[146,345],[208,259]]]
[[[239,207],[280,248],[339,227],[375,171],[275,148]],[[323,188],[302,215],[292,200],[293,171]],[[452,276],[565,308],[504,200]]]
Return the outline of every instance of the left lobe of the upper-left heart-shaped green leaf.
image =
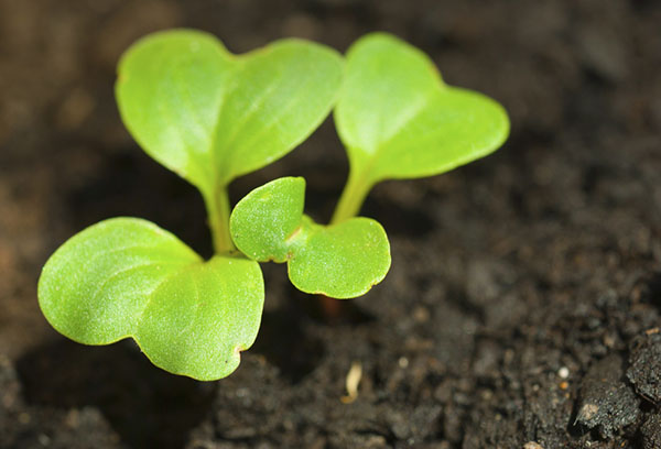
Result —
[[[210,34],[151,34],[121,57],[115,86],[121,119],[142,150],[201,190],[216,174],[212,147],[237,64]]]

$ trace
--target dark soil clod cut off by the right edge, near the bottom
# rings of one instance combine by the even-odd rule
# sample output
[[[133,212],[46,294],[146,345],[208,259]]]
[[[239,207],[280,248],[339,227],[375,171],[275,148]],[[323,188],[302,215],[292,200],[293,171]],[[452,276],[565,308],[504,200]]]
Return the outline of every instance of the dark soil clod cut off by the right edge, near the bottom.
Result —
[[[633,340],[627,377],[636,392],[653,402],[661,403],[661,333],[655,328]]]

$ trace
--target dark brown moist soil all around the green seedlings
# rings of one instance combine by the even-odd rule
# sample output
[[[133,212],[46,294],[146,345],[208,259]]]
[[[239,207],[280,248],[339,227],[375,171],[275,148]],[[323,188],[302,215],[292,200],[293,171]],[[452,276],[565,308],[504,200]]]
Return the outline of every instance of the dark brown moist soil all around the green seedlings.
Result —
[[[660,23],[643,0],[0,0],[0,447],[660,448]],[[199,195],[138,149],[112,97],[120,53],[172,26],[237,53],[390,31],[512,122],[486,160],[373,190],[362,213],[392,269],[337,319],[264,265],[258,340],[210,383],[130,341],[73,343],[36,304],[47,256],[100,219],[210,253]],[[330,121],[232,199],[284,175],[327,220],[347,176]]]

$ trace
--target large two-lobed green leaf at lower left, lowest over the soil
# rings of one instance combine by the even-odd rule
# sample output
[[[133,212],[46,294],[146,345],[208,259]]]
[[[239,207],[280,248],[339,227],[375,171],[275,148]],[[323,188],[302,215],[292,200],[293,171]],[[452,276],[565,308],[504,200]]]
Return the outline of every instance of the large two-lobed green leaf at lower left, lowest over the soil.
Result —
[[[257,337],[259,264],[204,262],[176,237],[137,218],[94,225],[64,243],[39,281],[40,307],[86,344],[133,338],[158,366],[198,380],[229,375]]]

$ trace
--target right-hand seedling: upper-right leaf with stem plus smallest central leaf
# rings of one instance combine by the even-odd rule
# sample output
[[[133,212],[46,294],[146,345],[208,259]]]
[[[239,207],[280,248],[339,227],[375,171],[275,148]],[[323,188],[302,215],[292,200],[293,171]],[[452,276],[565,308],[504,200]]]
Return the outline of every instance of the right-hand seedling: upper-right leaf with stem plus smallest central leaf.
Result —
[[[330,225],[303,215],[303,179],[282,178],[239,201],[230,233],[248,258],[286,262],[299,289],[347,298],[366,293],[390,267],[381,226],[356,218],[371,187],[483,157],[505,142],[509,120],[492,99],[443,83],[420,50],[372,33],[347,53],[335,123],[350,172]]]

